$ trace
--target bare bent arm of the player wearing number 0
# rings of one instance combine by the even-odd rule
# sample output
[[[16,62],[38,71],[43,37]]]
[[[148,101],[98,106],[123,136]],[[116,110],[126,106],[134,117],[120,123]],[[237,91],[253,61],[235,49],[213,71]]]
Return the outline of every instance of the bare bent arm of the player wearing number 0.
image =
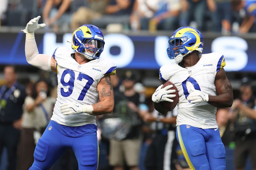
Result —
[[[218,108],[231,107],[233,103],[233,90],[224,69],[221,69],[216,74],[215,87],[218,95],[209,96],[208,103]]]

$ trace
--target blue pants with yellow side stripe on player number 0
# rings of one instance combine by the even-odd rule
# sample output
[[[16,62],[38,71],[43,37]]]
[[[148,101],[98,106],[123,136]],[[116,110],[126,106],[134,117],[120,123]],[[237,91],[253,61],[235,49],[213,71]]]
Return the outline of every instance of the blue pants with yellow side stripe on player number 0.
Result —
[[[226,169],[226,151],[219,129],[180,125],[176,137],[191,170]]]

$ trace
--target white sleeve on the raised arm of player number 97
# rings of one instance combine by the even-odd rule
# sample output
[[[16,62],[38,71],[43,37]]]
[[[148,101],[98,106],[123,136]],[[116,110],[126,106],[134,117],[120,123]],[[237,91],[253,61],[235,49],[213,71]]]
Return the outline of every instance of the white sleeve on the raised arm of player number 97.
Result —
[[[51,71],[51,55],[39,54],[35,38],[27,39],[25,42],[25,55],[29,64],[44,71]]]

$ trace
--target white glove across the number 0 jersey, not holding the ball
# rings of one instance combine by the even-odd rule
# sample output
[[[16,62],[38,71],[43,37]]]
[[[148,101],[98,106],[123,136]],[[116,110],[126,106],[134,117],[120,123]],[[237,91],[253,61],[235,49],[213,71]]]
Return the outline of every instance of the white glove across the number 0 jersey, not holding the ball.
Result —
[[[192,92],[188,95],[187,100],[194,104],[194,103],[201,103],[201,102],[208,102],[209,96],[207,93],[203,93],[200,90],[191,89]]]

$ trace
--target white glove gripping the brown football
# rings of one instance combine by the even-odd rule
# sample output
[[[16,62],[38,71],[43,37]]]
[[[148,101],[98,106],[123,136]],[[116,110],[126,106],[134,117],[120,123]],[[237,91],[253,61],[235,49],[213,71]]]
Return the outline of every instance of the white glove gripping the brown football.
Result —
[[[176,90],[168,90],[169,88],[172,88],[173,85],[167,85],[166,87],[162,88],[163,85],[160,85],[157,87],[156,91],[152,95],[152,101],[159,103],[160,101],[169,101],[173,102],[172,97],[175,97],[176,94],[169,94],[174,93]]]

